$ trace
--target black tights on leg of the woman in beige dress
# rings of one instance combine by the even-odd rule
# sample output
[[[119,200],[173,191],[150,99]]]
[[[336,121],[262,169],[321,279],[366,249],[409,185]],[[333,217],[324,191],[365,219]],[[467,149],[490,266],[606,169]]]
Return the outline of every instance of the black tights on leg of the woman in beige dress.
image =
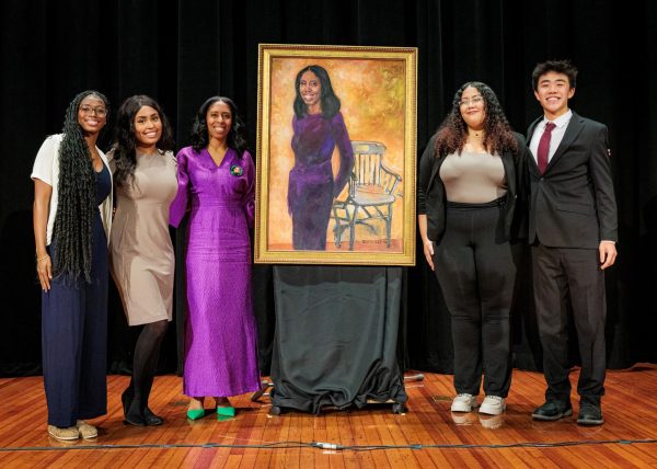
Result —
[[[148,409],[148,397],[150,396],[160,357],[160,346],[166,333],[169,321],[162,320],[146,324],[137,339],[135,357],[132,359],[132,378],[126,392],[131,398],[128,413],[143,416]]]

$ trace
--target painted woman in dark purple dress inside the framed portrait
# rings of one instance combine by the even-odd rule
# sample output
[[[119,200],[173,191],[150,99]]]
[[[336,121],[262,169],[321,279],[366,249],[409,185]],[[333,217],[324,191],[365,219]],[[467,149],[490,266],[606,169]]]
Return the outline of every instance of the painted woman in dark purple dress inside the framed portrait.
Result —
[[[326,70],[318,65],[303,68],[297,73],[295,88],[295,167],[288,183],[292,245],[296,250],[323,251],[333,199],[347,184],[354,150]],[[334,179],[331,158],[336,145],[339,170]]]

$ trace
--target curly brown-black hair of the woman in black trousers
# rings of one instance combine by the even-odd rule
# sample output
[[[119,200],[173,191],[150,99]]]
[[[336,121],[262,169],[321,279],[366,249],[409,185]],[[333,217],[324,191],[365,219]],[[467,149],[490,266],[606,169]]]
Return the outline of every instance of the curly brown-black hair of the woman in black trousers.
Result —
[[[484,110],[486,112],[484,121],[484,147],[492,155],[502,155],[505,151],[511,151],[517,157],[518,141],[514,136],[502,105],[491,87],[480,81],[464,83],[454,94],[452,108],[436,131],[436,156],[460,155],[463,150],[463,146],[468,139],[468,125],[461,116],[460,103],[463,91],[469,87],[475,88],[484,98]]]

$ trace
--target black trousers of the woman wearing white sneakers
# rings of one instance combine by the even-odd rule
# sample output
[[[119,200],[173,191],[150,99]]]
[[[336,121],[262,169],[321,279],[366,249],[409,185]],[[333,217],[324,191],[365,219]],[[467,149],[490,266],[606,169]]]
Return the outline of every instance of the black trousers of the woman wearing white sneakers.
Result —
[[[502,201],[447,203],[434,265],[451,314],[457,393],[506,398],[511,382],[510,308],[516,266]]]

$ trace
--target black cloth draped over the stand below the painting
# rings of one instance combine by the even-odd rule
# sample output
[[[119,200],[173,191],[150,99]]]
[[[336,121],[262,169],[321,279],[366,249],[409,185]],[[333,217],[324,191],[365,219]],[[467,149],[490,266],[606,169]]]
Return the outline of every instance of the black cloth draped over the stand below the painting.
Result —
[[[275,266],[274,298],[273,405],[316,414],[406,402],[401,267]]]

